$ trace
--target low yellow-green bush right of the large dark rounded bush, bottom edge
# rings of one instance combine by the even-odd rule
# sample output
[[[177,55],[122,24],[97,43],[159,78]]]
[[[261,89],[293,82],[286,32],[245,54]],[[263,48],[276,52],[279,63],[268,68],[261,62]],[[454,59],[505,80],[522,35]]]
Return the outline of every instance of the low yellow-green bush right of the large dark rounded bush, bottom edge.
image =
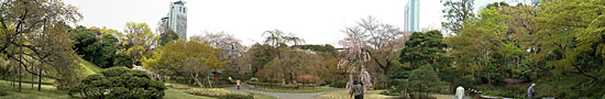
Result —
[[[227,96],[231,94],[231,91],[221,88],[191,88],[187,90],[187,92],[191,95],[207,96],[213,98],[219,98],[221,96]]]

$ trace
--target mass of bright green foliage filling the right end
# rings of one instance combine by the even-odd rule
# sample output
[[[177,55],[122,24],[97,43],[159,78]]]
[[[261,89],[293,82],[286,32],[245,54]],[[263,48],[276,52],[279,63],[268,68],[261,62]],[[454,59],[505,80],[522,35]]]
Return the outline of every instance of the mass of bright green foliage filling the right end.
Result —
[[[551,86],[539,86],[549,91],[544,94],[539,89],[540,97],[602,97],[602,46],[605,44],[602,3],[600,0],[546,0],[536,7],[488,4],[479,11],[479,18],[464,20],[457,35],[446,38],[452,47],[449,55],[455,62],[452,70],[465,75],[458,78],[457,84],[487,81],[488,88],[494,87],[493,84],[496,87],[507,84],[515,87],[487,94],[518,96],[524,91],[517,90],[527,89],[518,82],[539,82]],[[551,79],[571,76],[578,80]]]

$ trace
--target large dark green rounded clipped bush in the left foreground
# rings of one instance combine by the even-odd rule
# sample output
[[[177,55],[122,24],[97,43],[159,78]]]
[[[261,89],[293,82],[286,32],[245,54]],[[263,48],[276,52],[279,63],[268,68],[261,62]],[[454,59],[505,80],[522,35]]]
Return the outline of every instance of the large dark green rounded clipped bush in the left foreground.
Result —
[[[95,99],[161,99],[166,87],[150,78],[142,70],[111,67],[100,74],[89,75],[67,92]]]

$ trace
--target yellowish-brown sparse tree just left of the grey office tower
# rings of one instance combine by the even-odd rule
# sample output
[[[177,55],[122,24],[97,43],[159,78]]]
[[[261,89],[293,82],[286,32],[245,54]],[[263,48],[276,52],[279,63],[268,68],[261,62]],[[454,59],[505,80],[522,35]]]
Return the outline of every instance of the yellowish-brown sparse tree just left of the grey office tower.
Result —
[[[139,64],[139,59],[156,45],[158,36],[153,34],[146,23],[127,22],[124,29],[125,36],[122,37],[124,50],[119,54],[129,56],[133,65]]]

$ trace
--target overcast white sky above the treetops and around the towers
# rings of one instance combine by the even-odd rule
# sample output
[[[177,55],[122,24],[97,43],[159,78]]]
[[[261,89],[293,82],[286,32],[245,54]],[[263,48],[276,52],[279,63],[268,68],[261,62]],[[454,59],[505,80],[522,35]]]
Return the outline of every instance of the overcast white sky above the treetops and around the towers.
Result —
[[[76,6],[85,26],[122,31],[127,22],[147,23],[155,32],[161,18],[176,0],[66,0]],[[282,30],[305,38],[307,44],[332,44],[344,37],[340,30],[372,15],[402,28],[407,0],[183,0],[187,2],[187,36],[204,31],[224,31],[244,45],[262,42],[262,33]],[[475,7],[503,0],[476,0]],[[506,0],[512,1],[512,0]],[[420,29],[440,28],[440,0],[420,1]]]

